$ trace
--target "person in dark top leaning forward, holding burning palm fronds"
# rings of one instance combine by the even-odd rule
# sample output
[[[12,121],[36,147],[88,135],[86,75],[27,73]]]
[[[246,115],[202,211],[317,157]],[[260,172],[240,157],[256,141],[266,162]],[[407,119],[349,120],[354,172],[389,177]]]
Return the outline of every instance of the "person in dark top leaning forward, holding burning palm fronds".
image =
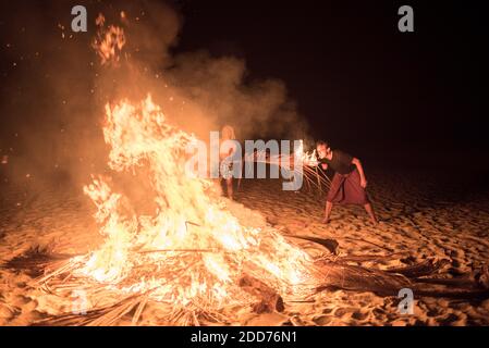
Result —
[[[316,145],[319,163],[323,170],[331,167],[334,177],[326,198],[325,223],[329,222],[333,204],[364,206],[370,221],[377,224],[374,208],[367,197],[367,178],[362,162],[340,150],[331,150],[328,142],[318,141]]]

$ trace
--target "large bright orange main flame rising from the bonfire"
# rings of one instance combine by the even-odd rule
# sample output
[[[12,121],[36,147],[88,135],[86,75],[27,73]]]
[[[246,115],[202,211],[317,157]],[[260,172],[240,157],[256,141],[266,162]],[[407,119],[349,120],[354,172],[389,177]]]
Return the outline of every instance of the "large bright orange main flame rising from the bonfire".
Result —
[[[311,260],[272,228],[240,223],[210,181],[185,173],[185,146],[193,136],[169,125],[151,98],[107,105],[103,127],[117,172],[146,166],[157,209],[127,214],[122,194],[103,178],[85,192],[97,207],[106,241],[77,274],[126,293],[150,293],[174,306],[213,307],[249,299],[239,287],[244,274],[282,296],[315,282]],[[138,183],[134,183],[138,185]]]

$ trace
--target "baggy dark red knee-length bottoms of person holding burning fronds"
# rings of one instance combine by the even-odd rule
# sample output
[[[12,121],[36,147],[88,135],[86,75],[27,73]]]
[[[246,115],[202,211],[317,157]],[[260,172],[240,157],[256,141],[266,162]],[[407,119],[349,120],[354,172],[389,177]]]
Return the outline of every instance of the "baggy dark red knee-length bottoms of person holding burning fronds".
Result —
[[[367,192],[360,185],[358,171],[354,170],[350,174],[335,173],[326,200],[337,204],[369,203]]]

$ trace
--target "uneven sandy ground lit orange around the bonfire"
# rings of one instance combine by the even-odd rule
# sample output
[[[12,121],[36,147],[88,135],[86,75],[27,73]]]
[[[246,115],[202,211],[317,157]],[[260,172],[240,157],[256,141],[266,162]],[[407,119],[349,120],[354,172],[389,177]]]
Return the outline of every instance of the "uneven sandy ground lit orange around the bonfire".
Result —
[[[489,260],[487,194],[467,195],[459,182],[442,183],[435,174],[394,171],[369,172],[368,189],[381,220],[378,225],[372,225],[358,207],[334,207],[331,222],[325,225],[323,194],[282,191],[277,181],[244,181],[233,209],[249,209],[284,234],[334,238],[341,256],[402,252],[411,262],[431,257],[448,259],[443,272],[454,275]],[[82,187],[44,185],[33,175],[15,185],[2,181],[1,194],[0,262],[33,246],[74,254],[94,250],[102,243],[91,217],[94,207]],[[306,241],[301,245],[313,247]],[[359,264],[371,266],[368,262]],[[376,266],[400,265],[401,261],[394,260]],[[28,272],[0,269],[0,325],[29,325],[48,314],[70,312],[72,299],[32,288],[32,278]],[[149,306],[139,324],[164,322]],[[234,324],[488,325],[489,300],[420,298],[415,300],[414,314],[401,314],[395,297],[329,290],[304,302],[285,302],[282,313],[243,312],[242,321]]]

